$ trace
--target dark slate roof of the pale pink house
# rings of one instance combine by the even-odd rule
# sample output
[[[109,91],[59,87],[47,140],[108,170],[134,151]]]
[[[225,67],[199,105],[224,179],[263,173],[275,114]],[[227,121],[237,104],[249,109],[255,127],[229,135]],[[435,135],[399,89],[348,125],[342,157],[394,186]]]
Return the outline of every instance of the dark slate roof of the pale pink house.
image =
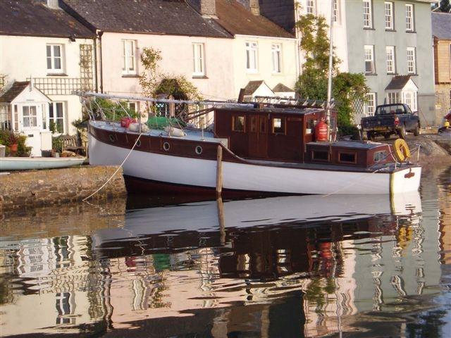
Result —
[[[231,37],[180,0],[63,0],[68,13],[106,32]]]

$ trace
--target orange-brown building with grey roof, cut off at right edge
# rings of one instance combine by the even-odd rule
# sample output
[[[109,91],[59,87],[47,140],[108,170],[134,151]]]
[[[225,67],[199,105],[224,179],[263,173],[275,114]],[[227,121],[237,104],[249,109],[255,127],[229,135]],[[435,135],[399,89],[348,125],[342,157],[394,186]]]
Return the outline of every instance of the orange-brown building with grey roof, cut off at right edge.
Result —
[[[432,13],[435,104],[444,116],[451,109],[451,14]]]

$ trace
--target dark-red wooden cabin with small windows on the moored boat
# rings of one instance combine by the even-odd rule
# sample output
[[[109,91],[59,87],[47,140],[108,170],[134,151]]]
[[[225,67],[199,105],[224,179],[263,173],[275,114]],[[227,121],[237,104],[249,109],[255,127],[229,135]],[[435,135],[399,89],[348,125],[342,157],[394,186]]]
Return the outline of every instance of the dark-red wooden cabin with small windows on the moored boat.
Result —
[[[389,160],[389,146],[368,142],[315,142],[323,108],[254,106],[216,108],[215,136],[237,156],[254,160],[368,167]],[[337,113],[330,129],[335,138]],[[390,160],[392,160],[390,156]]]

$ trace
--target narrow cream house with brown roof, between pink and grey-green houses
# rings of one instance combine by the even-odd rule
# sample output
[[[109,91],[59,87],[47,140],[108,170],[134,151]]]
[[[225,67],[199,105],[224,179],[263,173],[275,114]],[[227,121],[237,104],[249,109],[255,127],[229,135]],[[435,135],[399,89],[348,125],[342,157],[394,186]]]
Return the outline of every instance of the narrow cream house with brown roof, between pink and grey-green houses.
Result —
[[[259,1],[216,0],[216,16],[216,22],[233,34],[235,96],[245,88],[245,97],[251,99],[262,93],[294,97],[299,73],[295,36],[260,15]],[[270,91],[263,85],[249,92],[256,81],[264,81]]]

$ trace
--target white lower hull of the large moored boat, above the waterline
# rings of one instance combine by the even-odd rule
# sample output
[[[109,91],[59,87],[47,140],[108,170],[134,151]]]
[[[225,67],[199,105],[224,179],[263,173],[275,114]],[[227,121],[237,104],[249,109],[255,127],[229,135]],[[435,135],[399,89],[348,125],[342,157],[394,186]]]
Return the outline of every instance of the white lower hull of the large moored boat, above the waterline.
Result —
[[[89,134],[89,163],[118,165],[130,149],[104,144]],[[407,173],[413,177],[404,177]],[[216,161],[132,151],[124,175],[165,184],[214,189]],[[391,177],[390,177],[391,176]],[[410,175],[408,175],[410,176]],[[280,168],[223,162],[223,189],[285,194],[390,194],[415,192],[421,168],[396,173],[358,173],[333,170]]]

